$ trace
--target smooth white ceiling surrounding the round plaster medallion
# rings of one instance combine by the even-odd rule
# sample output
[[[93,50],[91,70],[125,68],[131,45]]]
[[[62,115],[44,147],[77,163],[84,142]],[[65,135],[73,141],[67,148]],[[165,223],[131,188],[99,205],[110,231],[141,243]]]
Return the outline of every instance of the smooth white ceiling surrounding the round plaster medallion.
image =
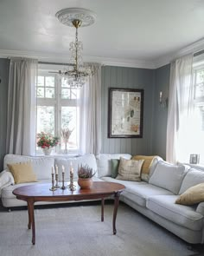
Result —
[[[204,0],[0,0],[0,56],[68,62],[75,30],[55,13],[70,7],[97,15],[79,30],[84,61],[154,68],[204,49]]]

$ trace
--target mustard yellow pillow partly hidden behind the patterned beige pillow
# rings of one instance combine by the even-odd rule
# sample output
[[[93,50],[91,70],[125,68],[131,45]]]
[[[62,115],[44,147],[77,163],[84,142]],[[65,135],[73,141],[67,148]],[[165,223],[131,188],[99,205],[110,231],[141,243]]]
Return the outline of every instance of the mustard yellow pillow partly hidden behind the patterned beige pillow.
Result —
[[[135,155],[132,160],[143,160],[143,166],[141,170],[141,179],[143,181],[149,181],[150,167],[156,155]]]

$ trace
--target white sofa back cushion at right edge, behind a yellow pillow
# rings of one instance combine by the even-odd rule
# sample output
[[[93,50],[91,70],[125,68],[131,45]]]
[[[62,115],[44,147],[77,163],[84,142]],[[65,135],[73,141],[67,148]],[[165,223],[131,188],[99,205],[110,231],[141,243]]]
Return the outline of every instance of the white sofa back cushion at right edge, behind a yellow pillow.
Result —
[[[194,187],[202,182],[204,182],[204,172],[191,168],[182,181],[179,194],[183,194],[189,187]]]

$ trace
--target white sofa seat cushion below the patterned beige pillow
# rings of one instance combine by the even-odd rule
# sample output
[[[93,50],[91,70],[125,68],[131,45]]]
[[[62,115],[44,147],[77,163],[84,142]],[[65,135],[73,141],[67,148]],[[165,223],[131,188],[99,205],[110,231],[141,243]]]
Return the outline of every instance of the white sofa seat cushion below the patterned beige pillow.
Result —
[[[102,178],[104,181],[118,182],[125,186],[123,197],[137,203],[141,207],[146,207],[146,200],[152,195],[157,194],[172,194],[168,190],[161,187],[150,185],[145,181],[119,181],[108,177]],[[113,180],[113,181],[112,181]]]

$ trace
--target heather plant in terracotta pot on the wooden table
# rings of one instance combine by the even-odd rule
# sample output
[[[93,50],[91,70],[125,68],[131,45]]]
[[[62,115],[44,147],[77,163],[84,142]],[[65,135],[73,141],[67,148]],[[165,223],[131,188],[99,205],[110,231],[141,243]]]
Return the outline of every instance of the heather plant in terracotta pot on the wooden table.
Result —
[[[78,184],[81,188],[90,188],[92,187],[92,176],[94,176],[96,172],[93,172],[92,168],[88,165],[80,165],[78,167]]]

